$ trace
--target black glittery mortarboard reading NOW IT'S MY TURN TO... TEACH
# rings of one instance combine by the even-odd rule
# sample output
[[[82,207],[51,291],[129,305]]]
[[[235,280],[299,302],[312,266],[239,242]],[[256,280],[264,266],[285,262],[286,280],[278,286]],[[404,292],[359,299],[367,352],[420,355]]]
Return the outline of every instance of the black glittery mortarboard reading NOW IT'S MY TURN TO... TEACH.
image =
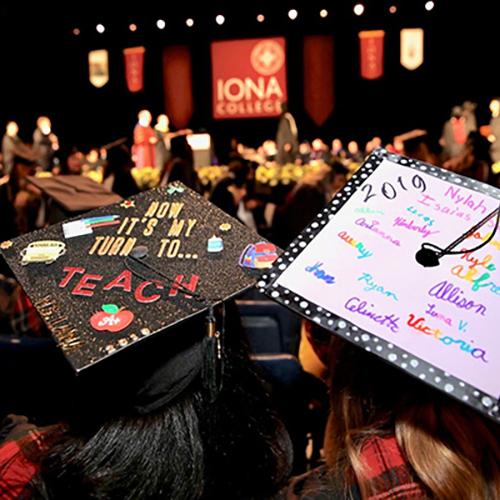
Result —
[[[274,245],[181,183],[0,248],[76,371],[211,311],[277,258]]]

